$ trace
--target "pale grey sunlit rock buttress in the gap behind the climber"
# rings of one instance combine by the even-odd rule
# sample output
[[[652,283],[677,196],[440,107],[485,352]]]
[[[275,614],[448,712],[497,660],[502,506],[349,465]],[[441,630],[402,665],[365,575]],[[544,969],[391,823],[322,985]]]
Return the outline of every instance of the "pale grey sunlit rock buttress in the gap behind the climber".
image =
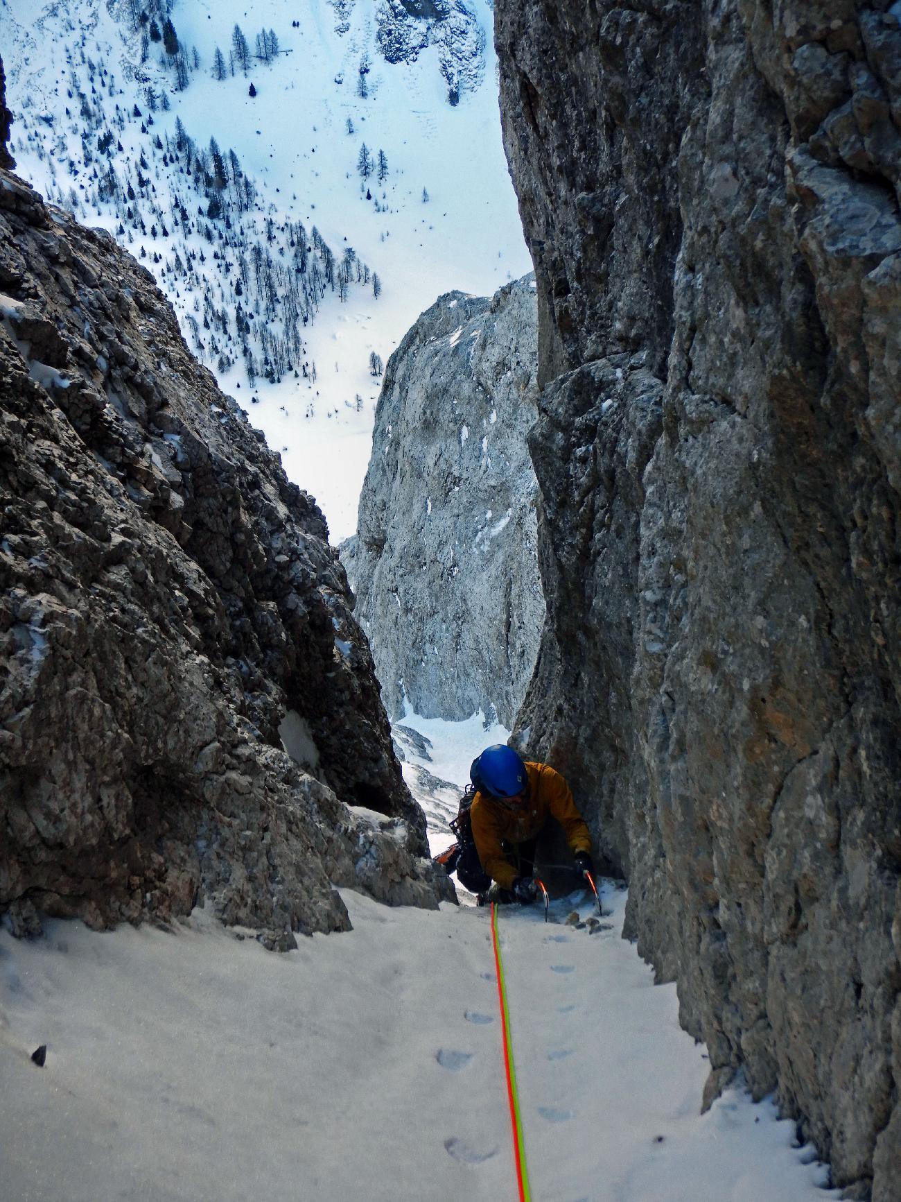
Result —
[[[535,287],[452,292],[390,357],[356,538],[342,559],[382,696],[513,725],[544,601],[535,549]],[[402,682],[402,688],[401,688]]]

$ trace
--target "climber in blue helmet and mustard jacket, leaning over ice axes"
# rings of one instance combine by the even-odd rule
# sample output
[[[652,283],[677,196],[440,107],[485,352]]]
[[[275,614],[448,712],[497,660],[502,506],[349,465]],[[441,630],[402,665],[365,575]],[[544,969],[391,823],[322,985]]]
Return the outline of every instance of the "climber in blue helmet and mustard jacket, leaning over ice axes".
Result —
[[[579,876],[593,873],[589,828],[566,780],[550,764],[526,763],[513,748],[496,743],[472,761],[470,776],[472,837],[482,868],[495,881],[491,900],[535,900],[535,849],[550,817],[563,828]]]

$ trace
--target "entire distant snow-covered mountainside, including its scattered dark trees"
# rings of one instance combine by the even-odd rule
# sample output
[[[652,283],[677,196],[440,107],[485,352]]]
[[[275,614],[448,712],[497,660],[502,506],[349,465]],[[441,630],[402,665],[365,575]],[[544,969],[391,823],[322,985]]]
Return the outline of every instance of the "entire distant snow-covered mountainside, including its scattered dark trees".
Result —
[[[491,8],[0,8],[19,173],[154,273],[334,540],[356,524],[381,364],[438,292],[531,267]]]

